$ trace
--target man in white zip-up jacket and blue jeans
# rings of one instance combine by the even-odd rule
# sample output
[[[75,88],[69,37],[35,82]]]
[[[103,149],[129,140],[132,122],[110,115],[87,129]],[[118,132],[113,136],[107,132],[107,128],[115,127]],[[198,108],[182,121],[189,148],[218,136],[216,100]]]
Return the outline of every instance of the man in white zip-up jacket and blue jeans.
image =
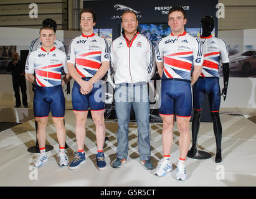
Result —
[[[118,118],[118,146],[113,167],[121,167],[128,157],[128,126],[131,106],[138,124],[140,162],[153,169],[150,162],[148,81],[154,75],[154,51],[151,42],[137,31],[133,11],[122,15],[123,33],[111,44],[110,60],[115,75],[115,109]]]

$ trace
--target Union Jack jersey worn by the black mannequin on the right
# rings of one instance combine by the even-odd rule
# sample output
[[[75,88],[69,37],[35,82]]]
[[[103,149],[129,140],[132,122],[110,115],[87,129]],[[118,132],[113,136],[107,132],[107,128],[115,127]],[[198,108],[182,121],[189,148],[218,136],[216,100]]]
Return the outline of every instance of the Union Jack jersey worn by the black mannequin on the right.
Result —
[[[198,38],[204,49],[204,62],[202,63],[202,72],[200,76],[219,78],[219,60],[222,63],[229,63],[229,52],[227,45],[222,39],[216,37],[200,37]]]

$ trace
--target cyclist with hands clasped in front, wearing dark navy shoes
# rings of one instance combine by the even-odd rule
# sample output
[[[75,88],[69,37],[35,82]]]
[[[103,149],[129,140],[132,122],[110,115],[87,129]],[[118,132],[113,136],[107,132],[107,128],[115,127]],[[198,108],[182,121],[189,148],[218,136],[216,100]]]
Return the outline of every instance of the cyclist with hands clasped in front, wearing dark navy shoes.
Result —
[[[77,137],[77,152],[69,169],[77,169],[85,161],[83,146],[89,108],[96,127],[97,167],[100,170],[106,168],[105,155],[102,151],[105,142],[105,91],[100,79],[108,71],[110,58],[107,40],[93,33],[95,24],[95,12],[91,9],[82,9],[82,35],[73,39],[69,45],[67,65],[70,75],[75,80],[72,88],[72,105]]]

